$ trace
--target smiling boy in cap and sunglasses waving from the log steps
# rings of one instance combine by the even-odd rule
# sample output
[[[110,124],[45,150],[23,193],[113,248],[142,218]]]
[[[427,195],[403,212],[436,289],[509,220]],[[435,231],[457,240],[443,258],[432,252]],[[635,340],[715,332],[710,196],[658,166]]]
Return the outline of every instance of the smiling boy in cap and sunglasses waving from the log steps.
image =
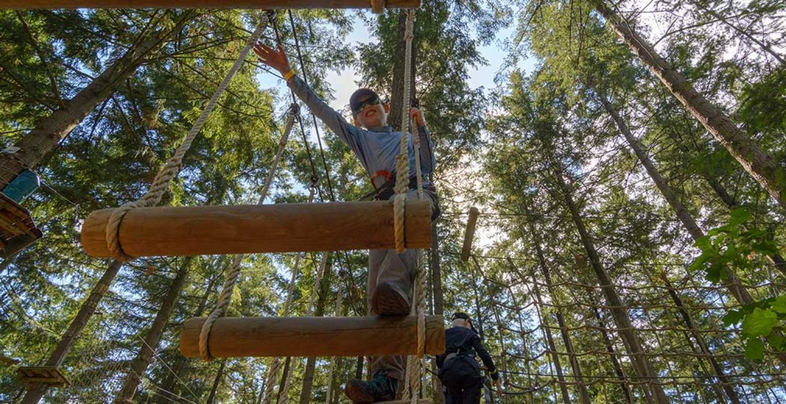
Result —
[[[286,54],[278,45],[277,50],[258,43],[255,52],[260,61],[276,69],[287,82],[292,92],[300,98],[314,116],[321,119],[350,149],[369,174],[374,192],[368,199],[388,200],[394,196],[395,160],[399,153],[401,131],[387,125],[387,112],[379,95],[373,90],[361,88],[350,97],[349,103],[354,125],[322,101],[314,91],[300,79],[289,66]],[[439,215],[437,196],[429,175],[434,171],[435,158],[431,135],[428,133],[423,114],[410,108],[410,118],[418,127],[421,141],[421,172],[424,193],[432,202],[432,220]],[[409,138],[410,173],[415,172],[412,134]],[[410,177],[408,199],[417,199],[417,178]],[[364,198],[366,199],[366,198]],[[369,251],[369,283],[366,288],[368,307],[371,313],[380,316],[405,316],[410,314],[413,281],[417,271],[417,250],[410,248],[402,254],[395,250]],[[353,402],[380,402],[395,400],[399,381],[404,378],[404,360],[401,356],[369,358],[372,380],[350,380],[344,393]]]

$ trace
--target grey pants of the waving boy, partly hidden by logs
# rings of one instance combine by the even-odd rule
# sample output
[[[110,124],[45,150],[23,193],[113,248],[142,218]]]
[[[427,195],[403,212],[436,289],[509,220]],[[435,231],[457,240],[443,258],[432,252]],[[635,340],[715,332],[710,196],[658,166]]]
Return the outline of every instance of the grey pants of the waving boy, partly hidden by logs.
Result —
[[[391,196],[393,199],[395,196]],[[410,189],[406,194],[407,199],[417,199],[417,191]],[[424,191],[424,197],[431,201],[432,209],[436,204],[436,195]],[[395,250],[370,250],[369,251],[369,285],[366,286],[366,299],[371,310],[371,296],[376,290],[376,285],[389,282],[399,286],[412,303],[412,286],[417,275],[417,252],[415,248],[407,248],[402,254]],[[374,313],[372,313],[374,314]],[[378,370],[387,371],[387,376],[402,380],[404,378],[404,358],[402,356],[373,356],[369,357],[371,373]]]

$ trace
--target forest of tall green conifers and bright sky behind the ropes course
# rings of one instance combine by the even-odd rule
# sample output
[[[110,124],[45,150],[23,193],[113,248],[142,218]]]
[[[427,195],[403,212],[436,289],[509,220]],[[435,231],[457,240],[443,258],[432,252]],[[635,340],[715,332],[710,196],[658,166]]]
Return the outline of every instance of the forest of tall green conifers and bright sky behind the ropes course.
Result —
[[[777,0],[423,2],[413,86],[443,208],[429,310],[476,318],[501,402],[786,401],[784,18]],[[35,149],[42,187],[24,204],[46,234],[0,267],[0,401],[330,404],[365,375],[359,358],[277,372],[182,358],[179,329],[215,306],[228,257],[119,266],[79,247],[90,211],[145,192],[257,20],[0,10],[0,146]],[[345,116],[357,81],[399,122],[401,12],[293,10],[274,26],[266,40]],[[249,57],[163,203],[254,203],[290,101]],[[310,189],[326,202],[370,186],[303,109],[266,203]],[[365,276],[365,252],[249,255],[228,315],[362,315]],[[17,366],[44,364],[71,386],[26,391]]]

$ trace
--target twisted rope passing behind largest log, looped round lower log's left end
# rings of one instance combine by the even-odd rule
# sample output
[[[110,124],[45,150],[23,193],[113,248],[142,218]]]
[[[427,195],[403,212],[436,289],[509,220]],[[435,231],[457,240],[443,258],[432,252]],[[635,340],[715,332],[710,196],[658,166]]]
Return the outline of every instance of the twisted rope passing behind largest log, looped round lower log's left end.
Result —
[[[276,152],[273,162],[270,163],[270,171],[267,173],[265,186],[263,187],[263,192],[259,195],[259,201],[257,204],[263,204],[267,196],[267,192],[270,190],[270,182],[273,181],[273,177],[276,174],[278,162],[281,160],[281,156],[284,154],[285,145],[289,138],[290,132],[292,132],[292,124],[295,123],[295,117],[297,116],[298,112],[299,108],[296,104],[292,104],[292,106],[289,108],[289,111],[287,112],[287,123],[284,128],[284,134],[281,134],[281,141],[278,143],[278,151]],[[211,314],[208,315],[208,318],[205,319],[204,324],[202,325],[199,335],[199,351],[200,356],[204,360],[211,359],[210,350],[208,348],[210,331],[213,329],[213,324],[215,321],[221,317],[226,312],[226,308],[230,306],[232,301],[232,292],[235,288],[235,285],[237,284],[237,279],[241,274],[241,263],[243,262],[243,257],[243,254],[237,254],[234,256],[232,265],[230,265],[224,274],[224,285],[221,290],[221,295],[219,296],[219,301],[216,303],[215,309],[213,309]]]

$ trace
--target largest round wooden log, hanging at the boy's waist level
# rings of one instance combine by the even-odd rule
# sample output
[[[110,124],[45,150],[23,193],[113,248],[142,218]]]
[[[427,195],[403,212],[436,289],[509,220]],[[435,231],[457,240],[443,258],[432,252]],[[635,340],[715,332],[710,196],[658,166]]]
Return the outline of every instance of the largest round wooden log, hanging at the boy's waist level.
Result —
[[[88,255],[108,258],[105,227],[112,209],[82,226]],[[431,247],[431,205],[406,202],[407,248]],[[138,208],[119,230],[128,255],[202,255],[395,248],[393,201]]]

